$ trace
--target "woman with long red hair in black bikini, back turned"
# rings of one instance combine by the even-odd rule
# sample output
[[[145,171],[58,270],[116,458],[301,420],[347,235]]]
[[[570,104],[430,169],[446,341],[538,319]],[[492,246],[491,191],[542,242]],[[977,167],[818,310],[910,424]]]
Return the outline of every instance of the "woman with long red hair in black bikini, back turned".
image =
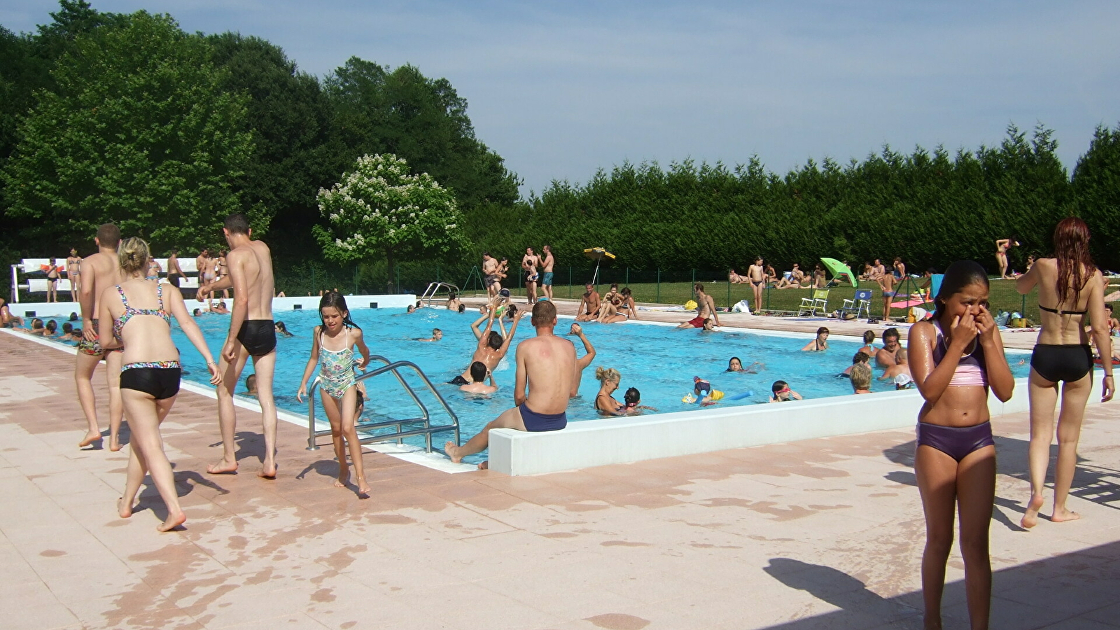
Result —
[[[1057,419],[1057,465],[1054,472],[1054,512],[1051,520],[1080,518],[1065,506],[1077,464],[1077,439],[1085,404],[1093,387],[1093,352],[1082,321],[1089,315],[1093,342],[1101,356],[1111,356],[1109,318],[1104,313],[1104,277],[1089,256],[1089,226],[1071,216],[1054,228],[1054,258],[1040,258],[1019,276],[1015,288],[1027,294],[1038,287],[1042,330],[1030,355],[1030,500],[1023,527],[1038,522],[1043,483],[1054,436],[1054,408],[1062,383],[1062,411]],[[1116,386],[1112,362],[1104,361],[1101,402],[1112,399]]]

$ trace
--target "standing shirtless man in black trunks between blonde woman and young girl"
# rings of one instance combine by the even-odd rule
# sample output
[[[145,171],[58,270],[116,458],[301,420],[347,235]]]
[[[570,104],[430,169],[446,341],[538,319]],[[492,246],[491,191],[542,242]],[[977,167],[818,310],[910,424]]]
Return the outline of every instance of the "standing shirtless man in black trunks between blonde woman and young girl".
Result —
[[[213,298],[214,291],[233,288],[230,333],[218,359],[222,385],[217,388],[217,417],[222,428],[222,461],[206,466],[206,472],[220,474],[237,470],[237,416],[233,393],[245,362],[252,356],[256,373],[256,400],[261,404],[264,425],[264,460],[256,474],[276,479],[277,406],[272,397],[272,373],[277,363],[277,333],[272,322],[272,252],[262,241],[252,240],[253,231],[243,214],[231,214],[222,231],[230,243],[226,257],[230,275],[198,287],[199,299]]]

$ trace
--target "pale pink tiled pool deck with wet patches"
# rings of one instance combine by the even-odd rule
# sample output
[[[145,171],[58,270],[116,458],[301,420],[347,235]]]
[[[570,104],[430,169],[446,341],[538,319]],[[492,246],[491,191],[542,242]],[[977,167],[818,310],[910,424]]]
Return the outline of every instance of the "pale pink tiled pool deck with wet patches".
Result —
[[[76,446],[73,358],[11,334],[0,352],[9,630],[921,628],[909,430],[526,478],[370,453],[358,500],[287,423],[279,478],[258,479],[245,409],[241,474],[207,475],[215,402],[184,392],[164,438],[189,520],[158,534],[153,488],[115,515],[128,451]],[[103,368],[95,383],[103,402]],[[1027,418],[998,419],[992,628],[1120,628],[1117,419],[1114,402],[1089,407],[1070,500],[1082,520],[1032,531],[1017,525]],[[954,549],[946,628],[967,626],[962,577]]]

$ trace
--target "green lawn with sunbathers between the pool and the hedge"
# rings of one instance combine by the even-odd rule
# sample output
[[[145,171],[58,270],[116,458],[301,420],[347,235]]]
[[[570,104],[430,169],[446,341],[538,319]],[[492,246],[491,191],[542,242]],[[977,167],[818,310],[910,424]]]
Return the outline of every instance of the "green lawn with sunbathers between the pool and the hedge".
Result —
[[[864,284],[864,288],[872,289],[871,297],[871,315],[879,317],[883,314],[883,297],[879,291],[878,285]],[[918,284],[914,284],[911,287],[908,284],[903,290],[909,291],[913,289],[917,290]],[[693,298],[692,282],[633,282],[629,285],[632,291],[634,291],[634,300],[647,304],[684,304],[685,302]],[[606,293],[609,289],[607,285],[599,285],[599,293]],[[704,282],[704,290],[708,291],[716,300],[716,306],[719,307],[730,307],[731,305],[738,303],[740,299],[747,299],[754,303],[754,295],[750,291],[749,285],[732,285],[727,281],[716,281],[716,282]],[[525,290],[523,288],[512,289],[513,295],[524,296]],[[552,293],[556,297],[571,297],[579,299],[579,296],[584,293],[582,286],[554,286]],[[829,300],[828,311],[837,311],[843,305],[843,300],[851,299],[856,294],[856,289],[849,286],[844,287],[833,287],[829,289]],[[466,295],[472,295],[466,291]],[[477,295],[482,295],[480,293]],[[801,299],[803,297],[812,297],[812,289],[773,289],[768,288],[763,293],[763,311],[764,312],[796,312],[797,307],[801,305]],[[991,280],[991,289],[989,294],[988,302],[991,304],[992,311],[1007,311],[1009,313],[1024,313],[1028,319],[1034,322],[1038,321],[1038,297],[1037,291],[1032,291],[1026,296],[1021,296],[1015,290],[1014,280]],[[932,307],[932,305],[927,305]],[[892,311],[892,316],[902,317],[905,316],[906,312],[902,308],[895,308]]]

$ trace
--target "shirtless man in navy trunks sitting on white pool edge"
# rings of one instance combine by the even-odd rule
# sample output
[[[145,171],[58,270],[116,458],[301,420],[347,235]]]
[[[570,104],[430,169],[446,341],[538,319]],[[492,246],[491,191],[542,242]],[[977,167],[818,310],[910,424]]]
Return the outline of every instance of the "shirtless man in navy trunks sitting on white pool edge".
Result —
[[[568,426],[568,400],[576,396],[576,346],[553,333],[557,307],[552,302],[533,305],[532,323],[536,336],[519,343],[514,350],[517,376],[513,401],[516,407],[503,411],[463,446],[454,442],[445,444],[444,451],[452,462],[458,463],[488,447],[489,432],[494,428],[544,432]],[[483,462],[478,467],[485,469],[486,464]]]

